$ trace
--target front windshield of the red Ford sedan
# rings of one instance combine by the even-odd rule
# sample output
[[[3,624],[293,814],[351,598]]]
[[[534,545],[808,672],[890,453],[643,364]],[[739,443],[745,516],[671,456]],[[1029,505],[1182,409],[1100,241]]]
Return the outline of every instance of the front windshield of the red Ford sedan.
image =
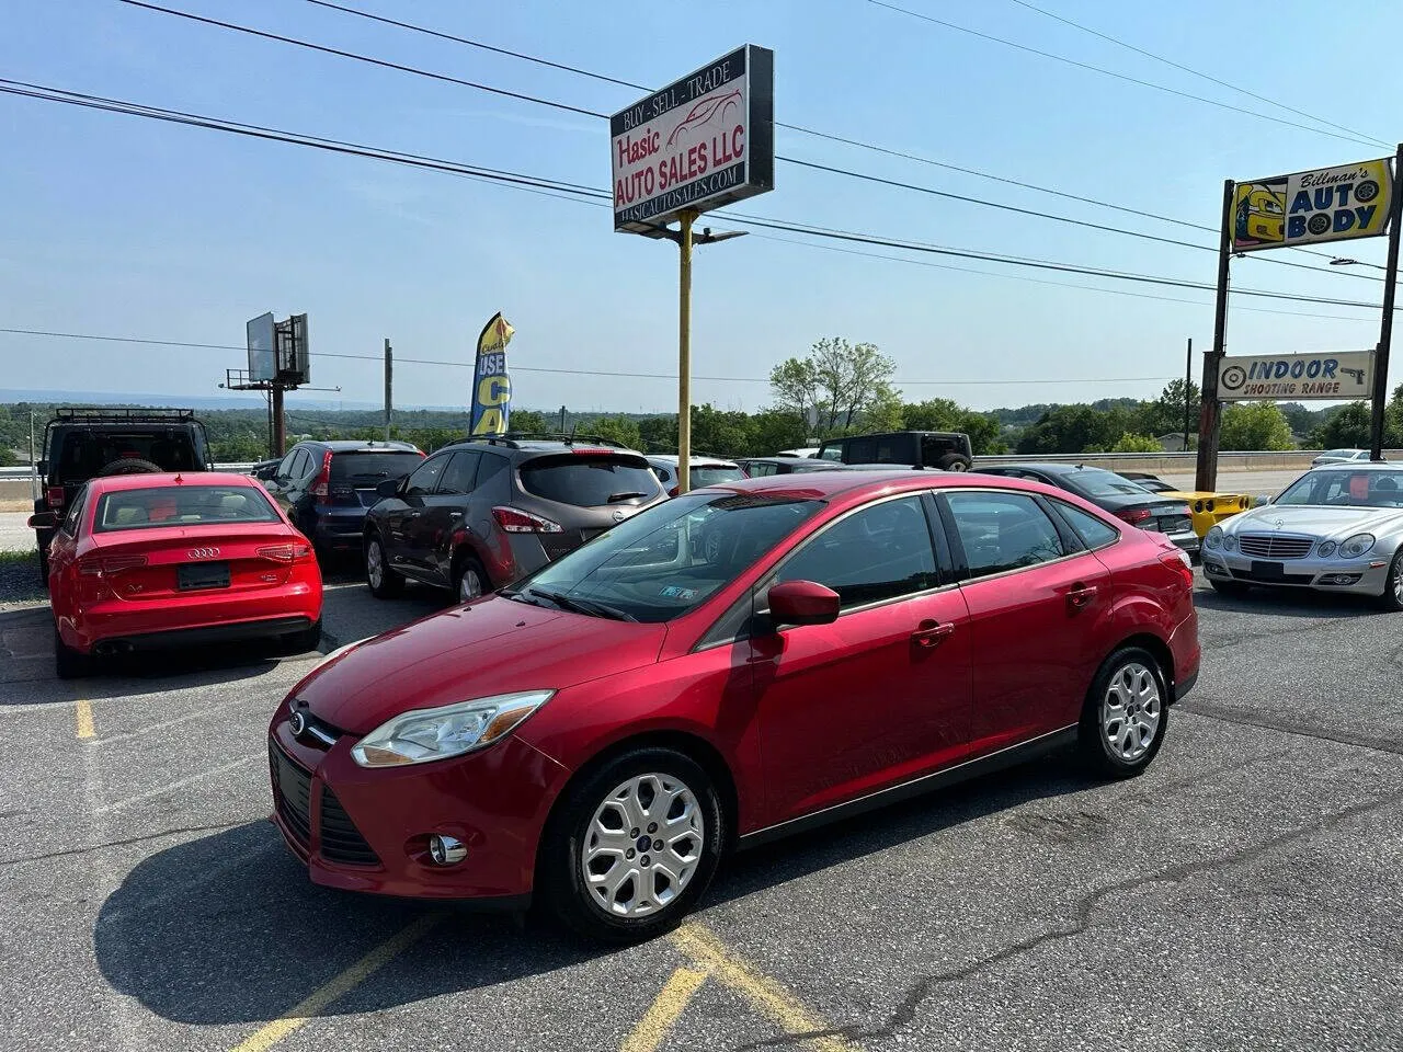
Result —
[[[821,506],[760,494],[679,497],[619,523],[504,595],[622,620],[669,621],[731,584]]]

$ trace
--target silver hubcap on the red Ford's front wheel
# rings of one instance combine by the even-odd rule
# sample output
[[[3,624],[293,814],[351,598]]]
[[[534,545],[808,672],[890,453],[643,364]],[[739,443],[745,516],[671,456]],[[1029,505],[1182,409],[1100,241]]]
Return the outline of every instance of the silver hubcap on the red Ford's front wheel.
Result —
[[[617,785],[589,819],[579,870],[606,913],[651,916],[692,882],[703,843],[696,794],[671,774],[640,774]]]

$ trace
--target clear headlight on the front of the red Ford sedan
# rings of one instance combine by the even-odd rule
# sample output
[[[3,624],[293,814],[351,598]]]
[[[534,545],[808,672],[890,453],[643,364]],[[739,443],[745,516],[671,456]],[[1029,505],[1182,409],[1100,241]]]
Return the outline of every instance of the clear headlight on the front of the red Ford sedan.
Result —
[[[401,713],[351,749],[362,767],[403,767],[462,756],[505,736],[540,708],[554,690],[526,690]]]

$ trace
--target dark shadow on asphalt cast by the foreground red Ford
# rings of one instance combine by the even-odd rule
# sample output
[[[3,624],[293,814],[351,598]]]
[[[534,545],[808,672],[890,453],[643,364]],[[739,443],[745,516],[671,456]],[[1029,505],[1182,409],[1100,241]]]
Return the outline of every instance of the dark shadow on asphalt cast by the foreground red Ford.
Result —
[[[1028,801],[1094,787],[1066,756],[732,856],[702,906],[918,840]],[[98,966],[153,1013],[196,1025],[276,1018],[414,922],[432,934],[375,982],[323,1009],[354,1014],[554,972],[612,950],[553,924],[313,885],[272,825],[255,822],[150,856],[102,903]]]

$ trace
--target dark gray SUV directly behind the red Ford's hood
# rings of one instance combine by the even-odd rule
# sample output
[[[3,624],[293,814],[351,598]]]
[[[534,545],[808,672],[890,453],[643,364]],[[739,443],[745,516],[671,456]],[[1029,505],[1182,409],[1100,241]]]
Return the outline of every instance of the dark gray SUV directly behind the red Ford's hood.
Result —
[[[504,588],[666,499],[643,454],[605,439],[511,435],[445,446],[384,483],[365,520],[366,584],[459,602]]]

